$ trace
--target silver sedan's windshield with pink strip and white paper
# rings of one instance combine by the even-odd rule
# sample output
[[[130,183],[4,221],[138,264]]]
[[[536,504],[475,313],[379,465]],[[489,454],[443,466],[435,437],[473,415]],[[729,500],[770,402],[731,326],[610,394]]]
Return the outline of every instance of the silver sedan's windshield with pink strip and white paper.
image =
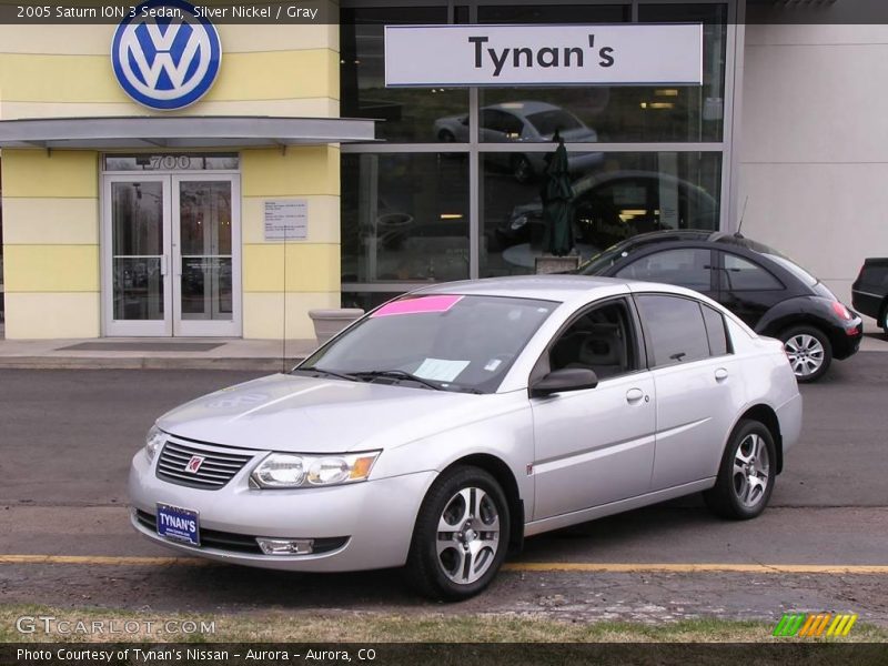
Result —
[[[477,295],[391,301],[294,372],[493,393],[558,303]]]

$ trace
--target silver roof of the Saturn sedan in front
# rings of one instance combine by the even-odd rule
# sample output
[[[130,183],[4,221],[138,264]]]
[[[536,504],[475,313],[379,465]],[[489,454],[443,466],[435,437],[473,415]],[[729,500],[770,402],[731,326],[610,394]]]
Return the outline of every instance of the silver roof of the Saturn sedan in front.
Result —
[[[414,294],[464,294],[478,296],[512,296],[565,303],[583,294],[595,297],[614,292],[615,286],[628,284],[617,278],[588,275],[513,275],[445,282],[414,291]],[[596,293],[597,292],[597,293]]]

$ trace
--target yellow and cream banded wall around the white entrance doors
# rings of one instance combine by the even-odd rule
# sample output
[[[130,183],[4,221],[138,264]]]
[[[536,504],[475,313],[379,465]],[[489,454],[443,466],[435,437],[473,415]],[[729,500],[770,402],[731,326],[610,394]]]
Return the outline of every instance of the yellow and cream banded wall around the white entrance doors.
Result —
[[[222,68],[179,115],[339,115],[337,26],[216,26]],[[115,26],[0,26],[0,120],[168,115],[130,100],[111,69]],[[7,336],[101,335],[100,153],[2,153]],[[313,337],[307,311],[340,303],[340,153],[241,152],[243,334]],[[264,201],[304,199],[305,241],[265,242]],[[284,254],[286,268],[284,269]],[[284,274],[286,274],[284,285]]]

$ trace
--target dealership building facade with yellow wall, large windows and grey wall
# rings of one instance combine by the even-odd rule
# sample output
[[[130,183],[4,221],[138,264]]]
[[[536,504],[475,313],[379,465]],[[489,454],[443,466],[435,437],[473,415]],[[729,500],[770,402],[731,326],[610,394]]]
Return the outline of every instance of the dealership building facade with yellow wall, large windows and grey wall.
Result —
[[[206,21],[218,75],[175,109],[147,107],[140,83],[196,70],[140,64],[145,27],[0,26],[6,335],[312,337],[315,307],[533,272],[555,130],[581,256],[743,218],[848,301],[888,249],[872,85],[888,29],[830,23],[830,7],[745,22],[759,9],[343,0],[326,6],[339,22]],[[616,23],[702,24],[702,84],[385,84],[385,26]],[[149,56],[175,51],[167,36]]]

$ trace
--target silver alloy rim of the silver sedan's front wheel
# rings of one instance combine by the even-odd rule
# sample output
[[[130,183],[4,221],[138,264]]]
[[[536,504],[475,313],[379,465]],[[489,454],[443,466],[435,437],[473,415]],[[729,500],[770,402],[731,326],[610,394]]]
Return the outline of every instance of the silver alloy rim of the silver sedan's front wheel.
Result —
[[[447,578],[460,585],[481,578],[500,549],[500,513],[493,498],[478,487],[456,492],[438,518],[435,545]]]

